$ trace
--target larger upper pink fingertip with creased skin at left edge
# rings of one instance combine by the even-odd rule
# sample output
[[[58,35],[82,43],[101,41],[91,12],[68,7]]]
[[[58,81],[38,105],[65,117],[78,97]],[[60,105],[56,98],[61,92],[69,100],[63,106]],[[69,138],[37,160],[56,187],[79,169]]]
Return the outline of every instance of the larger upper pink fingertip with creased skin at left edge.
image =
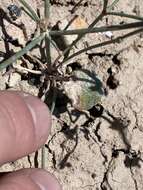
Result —
[[[51,128],[48,107],[38,98],[16,91],[0,92],[0,164],[40,148]]]

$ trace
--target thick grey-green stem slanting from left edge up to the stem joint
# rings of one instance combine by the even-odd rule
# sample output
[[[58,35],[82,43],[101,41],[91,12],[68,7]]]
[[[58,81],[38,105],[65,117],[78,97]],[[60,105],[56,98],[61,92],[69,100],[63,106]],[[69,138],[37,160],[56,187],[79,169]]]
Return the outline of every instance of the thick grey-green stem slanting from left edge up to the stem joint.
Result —
[[[10,64],[14,63],[19,59],[21,56],[26,54],[29,50],[31,50],[35,45],[37,45],[42,39],[44,39],[45,33],[42,33],[40,36],[32,40],[27,46],[25,46],[22,50],[11,56],[9,59],[0,63],[0,70],[6,68]]]

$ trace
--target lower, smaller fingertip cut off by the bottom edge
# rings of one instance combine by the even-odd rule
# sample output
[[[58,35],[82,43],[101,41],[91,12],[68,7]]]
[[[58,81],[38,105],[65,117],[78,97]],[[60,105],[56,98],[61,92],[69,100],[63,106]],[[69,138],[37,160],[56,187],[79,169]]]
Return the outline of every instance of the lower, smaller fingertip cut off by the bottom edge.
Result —
[[[1,177],[0,189],[62,190],[58,180],[42,169],[21,169]]]

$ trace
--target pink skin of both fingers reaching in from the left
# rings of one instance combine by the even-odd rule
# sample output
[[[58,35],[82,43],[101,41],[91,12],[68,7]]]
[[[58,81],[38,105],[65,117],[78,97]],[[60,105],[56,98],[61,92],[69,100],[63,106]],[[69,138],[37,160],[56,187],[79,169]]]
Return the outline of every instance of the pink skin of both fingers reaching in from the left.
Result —
[[[0,165],[39,149],[47,140],[51,115],[36,97],[14,91],[0,92]],[[61,190],[54,176],[42,169],[0,174],[1,190]]]

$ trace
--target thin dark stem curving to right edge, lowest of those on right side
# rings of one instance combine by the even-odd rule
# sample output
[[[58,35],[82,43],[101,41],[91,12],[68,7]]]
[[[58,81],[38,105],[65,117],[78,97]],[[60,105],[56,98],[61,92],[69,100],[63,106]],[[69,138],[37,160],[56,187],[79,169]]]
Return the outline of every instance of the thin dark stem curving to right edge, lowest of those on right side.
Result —
[[[70,59],[72,59],[72,58],[74,58],[74,57],[80,55],[81,53],[84,53],[84,52],[86,52],[86,51],[89,51],[89,50],[91,50],[91,49],[95,49],[95,48],[107,46],[107,45],[112,44],[112,43],[120,43],[121,40],[123,40],[123,39],[125,39],[125,38],[128,38],[128,37],[130,37],[130,36],[133,36],[133,35],[135,35],[135,34],[137,34],[137,33],[142,32],[142,31],[143,31],[143,28],[138,29],[138,30],[135,30],[135,31],[130,32],[130,33],[127,33],[127,34],[125,34],[125,35],[123,35],[123,36],[119,36],[119,37],[117,37],[117,38],[115,38],[115,39],[112,39],[112,40],[109,40],[109,41],[106,41],[106,42],[102,42],[102,43],[95,44],[95,45],[92,45],[92,46],[90,46],[90,47],[81,49],[80,51],[78,51],[78,52],[72,54],[72,55],[69,56],[67,59],[65,59],[61,64],[66,65],[66,64],[67,64],[67,61],[69,61]]]

